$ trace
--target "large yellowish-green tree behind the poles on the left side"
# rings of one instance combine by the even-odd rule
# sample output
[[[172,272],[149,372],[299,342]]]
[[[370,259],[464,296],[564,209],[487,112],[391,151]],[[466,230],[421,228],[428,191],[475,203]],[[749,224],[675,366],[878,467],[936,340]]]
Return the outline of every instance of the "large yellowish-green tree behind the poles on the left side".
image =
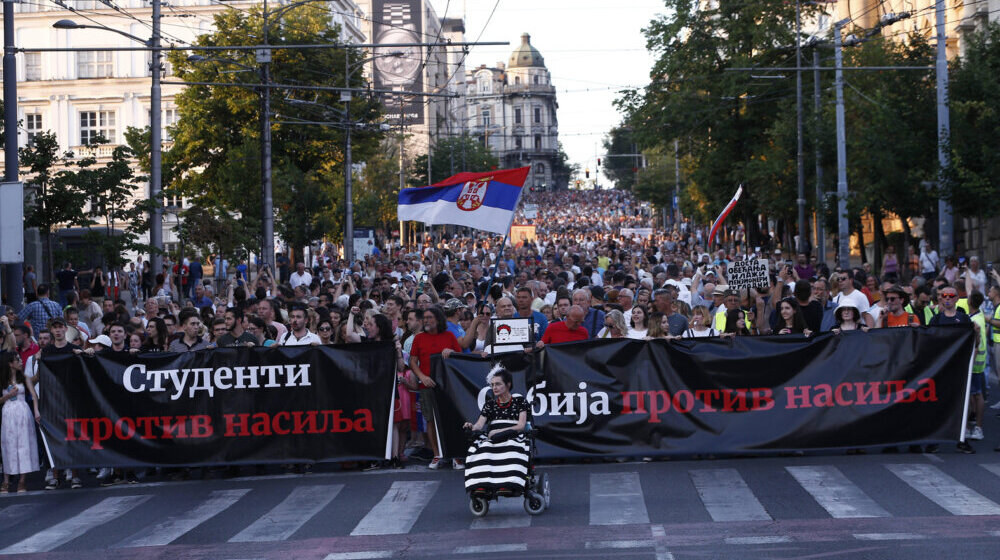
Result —
[[[339,27],[330,23],[323,8],[303,5],[288,9],[271,20],[270,39],[274,44],[339,44]],[[198,44],[234,46],[254,44],[261,33],[259,8],[230,10],[215,17],[216,31],[203,35]],[[225,52],[225,51],[223,51]],[[238,213],[259,224],[261,215],[260,179],[260,93],[252,84],[260,80],[254,53],[233,51],[230,62],[192,62],[180,53],[171,53],[178,76],[194,82],[226,82],[233,86],[187,87],[175,98],[180,120],[173,129],[174,145],[169,160],[176,166],[171,187],[195,206]],[[272,83],[302,86],[366,86],[363,73],[345,77],[345,61],[352,67],[361,63],[357,49],[275,49],[272,51]],[[235,63],[235,64],[234,64]],[[324,235],[329,221],[319,219],[324,208],[336,203],[331,181],[343,174],[344,127],[293,124],[296,121],[330,120],[332,111],[341,111],[338,120],[371,122],[380,113],[374,98],[354,95],[350,115],[332,91],[273,89],[271,110],[280,116],[272,124],[272,184],[275,230],[292,246],[306,245]],[[308,101],[309,103],[297,103]],[[317,113],[317,111],[319,113]],[[317,118],[322,115],[322,118]],[[364,161],[378,146],[380,134],[356,130],[352,134],[355,161]],[[240,241],[259,246],[260,230],[247,228]]]

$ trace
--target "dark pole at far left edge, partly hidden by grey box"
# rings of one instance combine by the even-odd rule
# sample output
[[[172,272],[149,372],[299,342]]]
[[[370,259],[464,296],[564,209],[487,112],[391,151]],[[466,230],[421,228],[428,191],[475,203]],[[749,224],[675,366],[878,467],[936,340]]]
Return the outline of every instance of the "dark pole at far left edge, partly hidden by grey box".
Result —
[[[17,159],[17,62],[14,60],[14,1],[3,0],[3,102],[4,102],[4,181],[16,183],[18,174]],[[4,185],[4,189],[15,188]],[[23,197],[21,206],[24,207]],[[14,240],[16,241],[16,240]],[[0,243],[10,240],[0,239]],[[22,266],[24,242],[21,241],[18,253],[22,262],[12,262],[3,265],[3,293],[7,295],[7,303],[20,311],[24,302],[24,282]]]

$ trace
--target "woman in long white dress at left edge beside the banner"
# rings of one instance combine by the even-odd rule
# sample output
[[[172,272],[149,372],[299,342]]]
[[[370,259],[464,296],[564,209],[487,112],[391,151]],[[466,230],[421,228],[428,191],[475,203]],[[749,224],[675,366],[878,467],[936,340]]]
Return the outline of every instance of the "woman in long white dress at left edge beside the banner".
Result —
[[[10,475],[21,475],[17,483],[18,492],[27,492],[27,475],[38,470],[38,442],[35,439],[35,425],[41,417],[38,414],[38,394],[32,378],[24,376],[24,364],[16,352],[5,352],[0,356],[0,380],[7,382],[7,388],[0,396],[3,403],[3,424],[0,425],[0,454],[3,456],[3,484],[0,493],[7,493]],[[34,400],[35,410],[28,408],[25,390]],[[32,422],[34,413],[34,422]]]

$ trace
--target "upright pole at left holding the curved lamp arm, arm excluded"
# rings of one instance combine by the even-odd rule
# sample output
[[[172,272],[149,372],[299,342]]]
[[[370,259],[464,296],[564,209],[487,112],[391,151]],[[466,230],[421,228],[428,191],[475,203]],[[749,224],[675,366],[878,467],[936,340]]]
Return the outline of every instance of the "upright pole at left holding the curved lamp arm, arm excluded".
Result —
[[[149,91],[149,199],[154,202],[153,211],[149,216],[149,244],[153,247],[149,255],[150,271],[155,278],[163,271],[163,201],[160,192],[163,188],[162,151],[163,123],[161,115],[162,95],[160,77],[163,70],[161,63],[163,53],[160,52],[160,0],[152,0],[153,36],[149,39],[151,60],[149,71],[152,86]],[[183,264],[183,263],[182,263]]]

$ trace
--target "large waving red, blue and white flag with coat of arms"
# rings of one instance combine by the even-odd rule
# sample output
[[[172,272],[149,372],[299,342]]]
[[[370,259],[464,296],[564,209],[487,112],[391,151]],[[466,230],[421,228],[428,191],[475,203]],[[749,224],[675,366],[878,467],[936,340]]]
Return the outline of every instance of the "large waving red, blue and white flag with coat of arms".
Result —
[[[427,187],[399,192],[400,221],[454,224],[506,235],[530,167],[459,173]]]

